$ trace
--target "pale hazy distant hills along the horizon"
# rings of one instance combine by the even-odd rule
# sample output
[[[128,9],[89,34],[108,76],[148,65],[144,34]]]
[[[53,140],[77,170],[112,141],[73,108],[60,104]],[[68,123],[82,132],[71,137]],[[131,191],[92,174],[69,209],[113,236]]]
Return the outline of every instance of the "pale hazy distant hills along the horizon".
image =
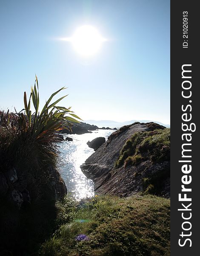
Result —
[[[167,128],[170,127],[170,125],[166,125],[166,124],[163,124],[161,122],[157,122],[157,121],[150,121],[150,120],[131,120],[131,121],[126,121],[126,122],[115,122],[115,121],[111,121],[111,120],[85,120],[84,122],[90,124],[90,125],[97,125],[98,127],[110,127],[110,128],[120,128],[124,125],[130,125],[134,122],[155,122],[159,125],[163,125]]]

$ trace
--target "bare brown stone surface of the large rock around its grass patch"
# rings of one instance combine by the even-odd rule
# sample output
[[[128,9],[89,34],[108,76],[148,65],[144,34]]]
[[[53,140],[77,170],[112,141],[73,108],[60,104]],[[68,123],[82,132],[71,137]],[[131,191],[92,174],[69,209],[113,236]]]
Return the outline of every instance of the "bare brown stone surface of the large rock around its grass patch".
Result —
[[[81,166],[86,177],[94,181],[94,191],[100,194],[130,196],[146,189],[147,180],[160,181],[159,195],[170,197],[170,161],[154,163],[145,159],[137,165],[115,167],[126,141],[137,132],[165,129],[155,123],[126,125],[112,133]]]

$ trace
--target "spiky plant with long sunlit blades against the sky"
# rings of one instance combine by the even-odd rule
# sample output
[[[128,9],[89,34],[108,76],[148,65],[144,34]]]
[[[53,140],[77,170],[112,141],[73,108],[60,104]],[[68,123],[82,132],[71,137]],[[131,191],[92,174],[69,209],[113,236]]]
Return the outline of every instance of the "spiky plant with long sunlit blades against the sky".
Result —
[[[46,101],[41,112],[39,112],[39,87],[37,76],[35,79],[34,87],[31,87],[29,101],[27,102],[26,92],[24,92],[24,109],[19,114],[19,126],[23,131],[29,131],[31,137],[34,139],[48,140],[56,132],[63,128],[70,128],[71,123],[79,123],[80,117],[71,111],[71,107],[65,108],[57,106],[57,103],[64,99],[67,95],[57,99],[51,103],[51,100],[61,90],[66,89],[62,87],[51,95]],[[34,113],[31,112],[31,101],[34,106]],[[77,120],[78,119],[78,120]]]

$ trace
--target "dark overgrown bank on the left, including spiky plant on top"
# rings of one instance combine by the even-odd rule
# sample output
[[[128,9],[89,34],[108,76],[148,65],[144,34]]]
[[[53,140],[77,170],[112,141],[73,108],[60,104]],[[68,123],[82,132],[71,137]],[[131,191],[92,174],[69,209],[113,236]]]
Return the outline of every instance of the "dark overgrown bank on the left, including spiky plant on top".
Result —
[[[24,93],[25,108],[20,113],[0,111],[0,172],[6,177],[9,169],[15,168],[18,180],[10,185],[11,189],[26,189],[30,197],[29,204],[22,204],[20,209],[9,200],[9,190],[0,197],[0,226],[4,234],[0,238],[0,248],[7,247],[15,255],[34,254],[38,244],[52,234],[56,226],[58,207],[55,205],[54,185],[55,180],[60,181],[54,169],[59,153],[57,133],[63,128],[70,128],[71,122],[80,119],[71,108],[57,106],[66,96],[51,103],[63,89],[53,93],[39,113],[36,77],[28,101]],[[66,208],[60,220],[58,218],[59,223],[73,218],[73,207],[67,211],[70,203],[64,201],[63,204]]]

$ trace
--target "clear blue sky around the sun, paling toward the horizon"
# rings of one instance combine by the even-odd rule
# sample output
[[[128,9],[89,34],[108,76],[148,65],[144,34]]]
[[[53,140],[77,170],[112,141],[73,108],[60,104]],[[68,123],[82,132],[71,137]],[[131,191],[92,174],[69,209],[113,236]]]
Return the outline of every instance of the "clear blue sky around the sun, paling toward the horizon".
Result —
[[[108,39],[90,58],[57,40],[82,25]],[[169,0],[0,1],[0,59],[0,109],[20,111],[36,73],[41,105],[66,86],[84,120],[170,123]]]

